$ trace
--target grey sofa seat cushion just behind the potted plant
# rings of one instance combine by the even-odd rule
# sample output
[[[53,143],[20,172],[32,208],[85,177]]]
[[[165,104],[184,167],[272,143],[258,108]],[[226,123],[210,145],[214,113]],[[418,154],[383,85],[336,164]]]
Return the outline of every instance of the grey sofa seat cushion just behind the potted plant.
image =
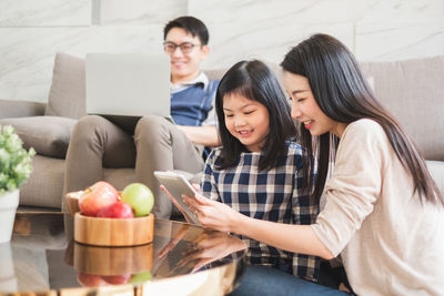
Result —
[[[75,120],[60,116],[31,116],[2,119],[1,125],[14,126],[26,149],[33,147],[38,154],[64,159]]]

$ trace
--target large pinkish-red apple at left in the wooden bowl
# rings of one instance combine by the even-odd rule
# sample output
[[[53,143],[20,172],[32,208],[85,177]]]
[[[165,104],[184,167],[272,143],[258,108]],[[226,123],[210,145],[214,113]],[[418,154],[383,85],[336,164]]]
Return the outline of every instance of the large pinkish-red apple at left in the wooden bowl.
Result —
[[[95,216],[100,210],[119,201],[118,191],[108,182],[99,181],[80,196],[79,207],[87,216]]]

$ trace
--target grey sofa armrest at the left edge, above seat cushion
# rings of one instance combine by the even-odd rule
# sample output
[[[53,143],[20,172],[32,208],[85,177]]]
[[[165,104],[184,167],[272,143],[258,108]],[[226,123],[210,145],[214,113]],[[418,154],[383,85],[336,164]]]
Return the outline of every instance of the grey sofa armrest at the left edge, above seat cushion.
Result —
[[[0,100],[0,119],[44,115],[46,106],[40,102]]]

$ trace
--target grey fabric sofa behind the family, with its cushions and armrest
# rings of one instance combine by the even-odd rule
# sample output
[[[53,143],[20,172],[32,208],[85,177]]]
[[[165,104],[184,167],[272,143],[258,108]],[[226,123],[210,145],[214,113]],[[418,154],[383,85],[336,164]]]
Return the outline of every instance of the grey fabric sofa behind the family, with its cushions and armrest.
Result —
[[[279,67],[273,70],[282,78]],[[444,57],[362,63],[377,98],[400,120],[427,160],[444,192]],[[220,79],[224,70],[205,71]],[[64,156],[77,119],[85,114],[83,59],[58,53],[48,104],[0,100],[0,124],[12,124],[33,146],[33,173],[21,186],[20,204],[61,208]],[[133,169],[105,169],[104,180],[122,188]]]

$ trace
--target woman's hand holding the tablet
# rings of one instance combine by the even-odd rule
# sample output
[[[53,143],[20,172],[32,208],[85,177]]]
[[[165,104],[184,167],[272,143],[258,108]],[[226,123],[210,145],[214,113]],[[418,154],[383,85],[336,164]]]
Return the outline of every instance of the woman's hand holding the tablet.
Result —
[[[182,197],[190,210],[196,214],[199,223],[204,228],[235,233],[236,226],[244,217],[230,206],[211,201],[200,193],[195,194],[195,198],[186,195]]]

